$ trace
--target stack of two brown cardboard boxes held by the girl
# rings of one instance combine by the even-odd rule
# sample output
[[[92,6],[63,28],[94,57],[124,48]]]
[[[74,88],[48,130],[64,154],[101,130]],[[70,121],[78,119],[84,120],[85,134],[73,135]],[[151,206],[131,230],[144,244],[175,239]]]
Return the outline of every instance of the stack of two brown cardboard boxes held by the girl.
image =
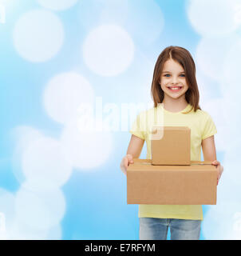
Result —
[[[127,203],[215,205],[217,169],[191,161],[191,130],[154,127],[152,159],[134,158],[127,169]]]

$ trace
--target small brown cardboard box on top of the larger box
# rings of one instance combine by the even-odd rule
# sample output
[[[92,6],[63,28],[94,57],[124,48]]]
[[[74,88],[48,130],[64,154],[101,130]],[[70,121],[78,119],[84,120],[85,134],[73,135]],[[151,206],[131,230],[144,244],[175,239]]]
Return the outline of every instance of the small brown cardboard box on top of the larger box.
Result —
[[[151,136],[152,165],[190,165],[190,128],[153,126]]]

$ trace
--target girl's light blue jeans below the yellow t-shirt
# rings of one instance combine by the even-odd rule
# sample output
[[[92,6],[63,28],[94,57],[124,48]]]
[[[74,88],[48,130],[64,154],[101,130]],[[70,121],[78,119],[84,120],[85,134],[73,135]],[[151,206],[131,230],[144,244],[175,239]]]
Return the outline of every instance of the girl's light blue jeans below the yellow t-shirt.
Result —
[[[166,240],[170,227],[171,240],[199,240],[201,220],[178,218],[139,218],[140,240]]]

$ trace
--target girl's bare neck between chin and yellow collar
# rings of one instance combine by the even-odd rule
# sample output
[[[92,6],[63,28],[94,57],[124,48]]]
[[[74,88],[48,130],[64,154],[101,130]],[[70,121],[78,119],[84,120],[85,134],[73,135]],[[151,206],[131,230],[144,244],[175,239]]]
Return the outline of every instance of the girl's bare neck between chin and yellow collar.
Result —
[[[188,102],[186,101],[185,97],[170,98],[165,95],[163,103],[164,109],[170,112],[180,112],[181,110],[184,110],[186,106],[188,106]]]

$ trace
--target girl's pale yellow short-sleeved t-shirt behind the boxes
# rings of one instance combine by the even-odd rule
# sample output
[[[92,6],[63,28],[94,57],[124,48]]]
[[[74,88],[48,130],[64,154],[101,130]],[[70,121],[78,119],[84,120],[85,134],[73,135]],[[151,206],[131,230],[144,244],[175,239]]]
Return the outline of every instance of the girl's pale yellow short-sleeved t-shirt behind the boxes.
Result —
[[[152,158],[151,154],[151,130],[152,126],[188,126],[191,129],[191,161],[201,161],[201,143],[204,138],[217,133],[215,123],[211,116],[203,110],[187,112],[192,106],[188,104],[180,112],[165,110],[163,104],[141,111],[129,130],[131,134],[145,140],[147,145],[147,159]],[[203,219],[201,205],[139,205],[138,217],[151,218],[182,218],[182,219]]]

